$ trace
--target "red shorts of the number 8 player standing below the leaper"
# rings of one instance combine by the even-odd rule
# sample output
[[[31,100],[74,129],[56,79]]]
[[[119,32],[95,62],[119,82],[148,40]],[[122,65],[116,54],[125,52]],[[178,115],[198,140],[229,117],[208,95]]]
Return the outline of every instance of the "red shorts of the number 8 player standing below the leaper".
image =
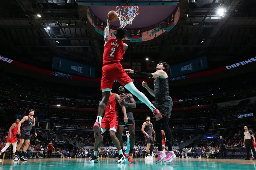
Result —
[[[104,115],[101,121],[101,128],[113,130],[116,132],[118,126],[118,119],[116,115]],[[104,130],[104,131],[105,131]]]

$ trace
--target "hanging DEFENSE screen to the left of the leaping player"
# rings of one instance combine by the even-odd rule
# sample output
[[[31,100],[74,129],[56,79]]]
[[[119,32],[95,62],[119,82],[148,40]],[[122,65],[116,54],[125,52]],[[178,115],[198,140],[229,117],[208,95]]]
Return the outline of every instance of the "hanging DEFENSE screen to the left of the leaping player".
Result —
[[[72,62],[56,56],[53,57],[52,68],[84,77],[95,78],[95,67]]]

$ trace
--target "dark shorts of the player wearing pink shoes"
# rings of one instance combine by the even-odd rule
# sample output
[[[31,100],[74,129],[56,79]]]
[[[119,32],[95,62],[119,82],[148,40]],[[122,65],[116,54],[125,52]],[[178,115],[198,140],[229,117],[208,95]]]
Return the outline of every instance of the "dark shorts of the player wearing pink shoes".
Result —
[[[154,105],[162,115],[170,118],[173,106],[171,96],[165,96],[161,99],[156,98]]]

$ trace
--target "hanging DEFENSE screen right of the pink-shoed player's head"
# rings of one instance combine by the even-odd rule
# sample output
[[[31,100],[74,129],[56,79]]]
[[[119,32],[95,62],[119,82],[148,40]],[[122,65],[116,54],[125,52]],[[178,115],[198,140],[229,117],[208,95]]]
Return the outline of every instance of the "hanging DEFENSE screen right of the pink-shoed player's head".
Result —
[[[170,66],[169,77],[177,77],[184,74],[189,74],[195,71],[203,70],[208,68],[207,57],[199,57],[188,62],[176,64]]]

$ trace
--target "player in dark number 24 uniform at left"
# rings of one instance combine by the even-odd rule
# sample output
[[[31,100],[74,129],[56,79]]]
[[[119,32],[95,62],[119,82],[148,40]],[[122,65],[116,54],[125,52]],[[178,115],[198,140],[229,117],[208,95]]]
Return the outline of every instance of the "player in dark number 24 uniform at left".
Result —
[[[35,137],[37,136],[36,134],[36,127],[35,127],[35,122],[36,119],[33,117],[35,113],[35,110],[30,109],[28,111],[28,116],[24,116],[23,119],[21,119],[21,121],[18,124],[18,130],[17,130],[17,134],[19,135],[19,139],[20,139],[20,143],[17,146],[15,155],[17,157],[18,152],[20,151],[21,146],[24,143],[25,140],[25,146],[23,147],[22,153],[20,154],[20,160],[23,161],[27,161],[27,159],[25,159],[23,157],[24,153],[27,151],[28,146],[29,146],[29,142],[30,142],[30,130],[33,129],[33,131],[35,132]]]

